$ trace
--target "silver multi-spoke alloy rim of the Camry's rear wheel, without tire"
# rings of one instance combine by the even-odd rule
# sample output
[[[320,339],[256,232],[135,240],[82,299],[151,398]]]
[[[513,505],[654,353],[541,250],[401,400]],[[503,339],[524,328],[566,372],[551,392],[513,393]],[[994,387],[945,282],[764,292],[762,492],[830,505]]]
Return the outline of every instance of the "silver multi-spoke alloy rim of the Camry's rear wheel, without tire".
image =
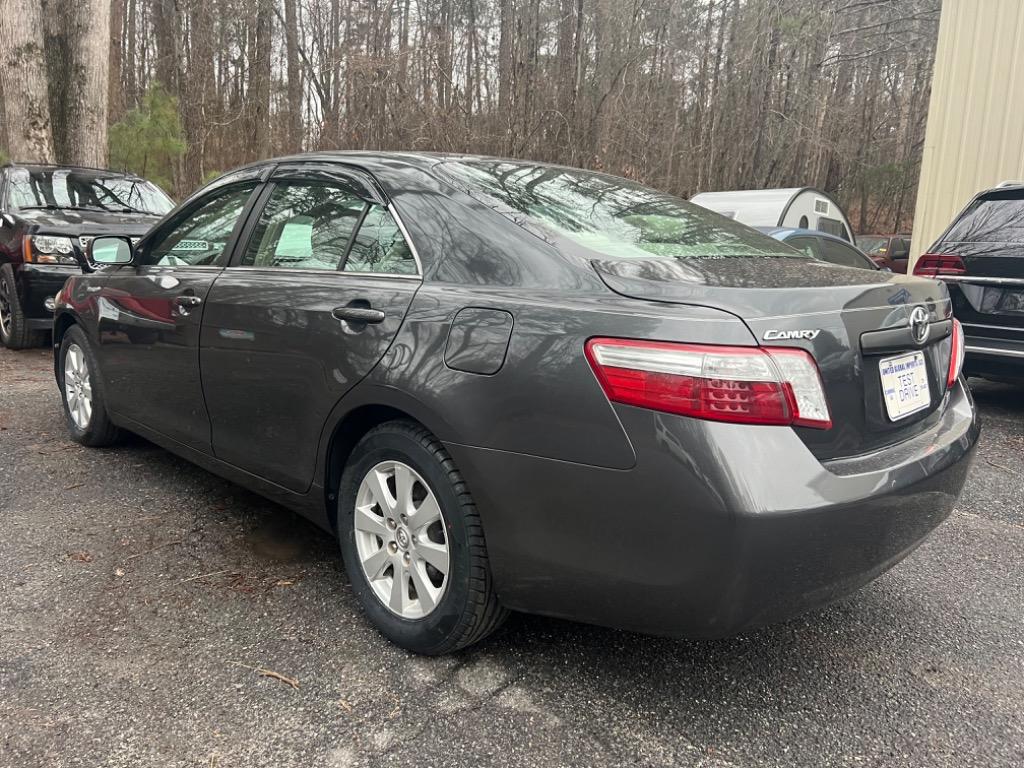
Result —
[[[423,618],[444,595],[449,541],[437,497],[398,461],[373,467],[355,495],[355,547],[377,599],[402,618]]]

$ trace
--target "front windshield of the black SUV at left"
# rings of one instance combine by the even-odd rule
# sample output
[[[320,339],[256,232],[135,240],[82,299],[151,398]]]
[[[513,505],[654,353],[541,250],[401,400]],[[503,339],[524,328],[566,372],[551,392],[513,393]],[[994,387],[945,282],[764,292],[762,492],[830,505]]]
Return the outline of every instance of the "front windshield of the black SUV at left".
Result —
[[[159,187],[140,178],[69,168],[14,168],[8,198],[20,209],[69,208],[163,215],[174,207]]]

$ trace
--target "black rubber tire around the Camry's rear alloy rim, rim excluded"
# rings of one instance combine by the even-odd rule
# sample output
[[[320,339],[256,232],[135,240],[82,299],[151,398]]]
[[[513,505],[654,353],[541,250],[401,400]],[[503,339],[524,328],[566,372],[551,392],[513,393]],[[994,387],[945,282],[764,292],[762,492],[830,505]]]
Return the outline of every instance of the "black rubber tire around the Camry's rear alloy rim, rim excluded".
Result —
[[[449,581],[436,607],[420,618],[399,616],[381,602],[356,549],[353,514],[359,484],[385,461],[402,462],[426,481],[445,525]],[[359,440],[342,474],[337,522],[352,589],[371,623],[396,645],[429,655],[451,653],[482,640],[508,615],[495,594],[483,529],[469,489],[444,446],[422,426],[391,421]]]

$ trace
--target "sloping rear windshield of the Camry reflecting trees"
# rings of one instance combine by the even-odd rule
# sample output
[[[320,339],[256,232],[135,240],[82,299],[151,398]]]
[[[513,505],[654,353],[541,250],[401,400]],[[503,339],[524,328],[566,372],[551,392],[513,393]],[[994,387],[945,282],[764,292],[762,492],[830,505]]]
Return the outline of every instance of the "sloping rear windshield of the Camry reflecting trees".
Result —
[[[625,179],[569,168],[446,161],[467,194],[540,233],[614,258],[807,258],[742,224]]]

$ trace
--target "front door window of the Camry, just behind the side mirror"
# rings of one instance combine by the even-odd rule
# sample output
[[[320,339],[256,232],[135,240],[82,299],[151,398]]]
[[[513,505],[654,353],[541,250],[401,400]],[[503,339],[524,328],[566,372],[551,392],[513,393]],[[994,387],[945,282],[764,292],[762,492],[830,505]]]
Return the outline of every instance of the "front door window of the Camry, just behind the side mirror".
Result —
[[[255,183],[222,189],[186,212],[137,255],[140,266],[208,266],[224,253]]]

